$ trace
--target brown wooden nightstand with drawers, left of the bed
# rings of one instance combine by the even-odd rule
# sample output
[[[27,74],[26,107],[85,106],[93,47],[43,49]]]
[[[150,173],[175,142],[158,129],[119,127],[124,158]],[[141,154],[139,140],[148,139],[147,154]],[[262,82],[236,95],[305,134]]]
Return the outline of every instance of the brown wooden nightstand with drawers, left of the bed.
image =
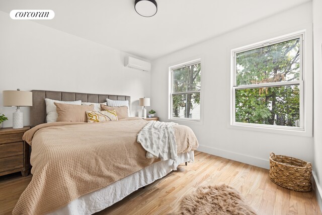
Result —
[[[29,145],[22,140],[30,126],[0,129],[0,176],[21,171],[23,177],[29,174]]]

